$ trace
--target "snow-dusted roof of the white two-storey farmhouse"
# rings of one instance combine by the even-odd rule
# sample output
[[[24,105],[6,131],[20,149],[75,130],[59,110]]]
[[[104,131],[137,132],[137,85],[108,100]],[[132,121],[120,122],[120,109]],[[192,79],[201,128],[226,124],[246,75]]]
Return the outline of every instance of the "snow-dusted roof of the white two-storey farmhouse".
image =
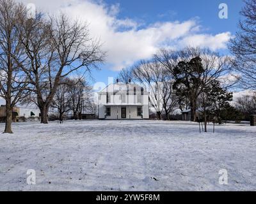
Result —
[[[123,83],[118,83],[118,84],[109,84],[105,89],[99,92],[99,94],[106,94],[108,93],[127,93],[127,91],[131,92],[132,94],[134,93],[134,87],[136,88],[136,91],[138,93],[143,90],[143,94],[148,94],[148,92],[141,87],[140,85],[137,84],[123,84]]]

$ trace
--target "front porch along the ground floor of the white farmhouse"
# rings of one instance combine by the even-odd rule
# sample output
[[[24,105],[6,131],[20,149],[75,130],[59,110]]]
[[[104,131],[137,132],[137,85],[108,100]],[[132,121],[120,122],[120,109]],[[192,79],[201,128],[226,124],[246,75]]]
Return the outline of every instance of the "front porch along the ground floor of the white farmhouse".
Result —
[[[143,119],[142,105],[105,105],[105,119],[141,120]]]

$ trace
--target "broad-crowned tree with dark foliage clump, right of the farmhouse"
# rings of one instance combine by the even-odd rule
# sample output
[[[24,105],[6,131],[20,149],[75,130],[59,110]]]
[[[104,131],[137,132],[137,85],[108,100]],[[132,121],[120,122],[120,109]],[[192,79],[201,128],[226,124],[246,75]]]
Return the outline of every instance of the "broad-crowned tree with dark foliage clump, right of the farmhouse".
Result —
[[[228,56],[212,52],[209,49],[187,47],[179,52],[161,50],[156,55],[156,59],[172,73],[175,78],[175,84],[178,83],[177,79],[180,78],[181,83],[177,87],[180,91],[178,90],[176,93],[180,100],[189,99],[191,120],[193,121],[196,120],[197,99],[204,87],[207,87],[212,81],[217,79],[222,80],[223,86],[225,84],[226,88],[231,87],[235,83],[228,80],[232,73],[232,59]],[[195,59],[199,61],[195,61]],[[184,86],[186,90],[183,89]],[[179,104],[182,105],[180,102]]]

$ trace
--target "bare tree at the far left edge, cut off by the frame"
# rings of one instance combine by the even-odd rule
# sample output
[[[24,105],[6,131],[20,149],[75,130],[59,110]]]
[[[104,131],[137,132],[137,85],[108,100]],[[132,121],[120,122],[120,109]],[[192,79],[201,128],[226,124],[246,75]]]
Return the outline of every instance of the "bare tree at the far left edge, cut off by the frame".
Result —
[[[20,19],[26,18],[22,4],[0,0],[0,96],[6,101],[4,133],[12,133],[12,110],[27,92],[28,76],[20,68],[26,57],[21,46]]]

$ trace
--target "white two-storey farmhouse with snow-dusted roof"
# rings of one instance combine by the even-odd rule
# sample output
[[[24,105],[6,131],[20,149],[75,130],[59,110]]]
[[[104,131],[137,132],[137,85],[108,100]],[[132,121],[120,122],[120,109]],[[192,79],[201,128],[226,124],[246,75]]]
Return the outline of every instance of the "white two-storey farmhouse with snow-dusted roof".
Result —
[[[149,94],[139,85],[117,82],[98,94],[99,119],[149,119]]]

